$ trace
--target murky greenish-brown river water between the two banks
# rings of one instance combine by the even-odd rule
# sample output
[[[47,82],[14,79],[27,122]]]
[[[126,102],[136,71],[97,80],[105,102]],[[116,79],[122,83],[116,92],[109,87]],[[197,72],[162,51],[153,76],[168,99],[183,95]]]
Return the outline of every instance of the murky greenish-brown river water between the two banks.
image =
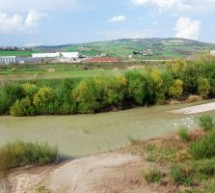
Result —
[[[197,104],[197,103],[195,103]],[[0,145],[14,140],[48,142],[70,156],[117,149],[132,139],[150,139],[177,131],[186,124],[196,128],[196,115],[168,111],[192,106],[180,104],[71,116],[0,117]],[[215,111],[208,112],[215,117]]]

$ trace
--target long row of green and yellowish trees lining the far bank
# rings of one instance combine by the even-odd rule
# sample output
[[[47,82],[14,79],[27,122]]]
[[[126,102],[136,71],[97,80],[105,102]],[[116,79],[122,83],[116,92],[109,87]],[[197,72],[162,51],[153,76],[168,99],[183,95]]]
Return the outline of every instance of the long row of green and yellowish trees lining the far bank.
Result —
[[[176,60],[162,68],[118,76],[3,84],[0,114],[13,116],[94,113],[164,104],[189,95],[215,97],[215,61]]]

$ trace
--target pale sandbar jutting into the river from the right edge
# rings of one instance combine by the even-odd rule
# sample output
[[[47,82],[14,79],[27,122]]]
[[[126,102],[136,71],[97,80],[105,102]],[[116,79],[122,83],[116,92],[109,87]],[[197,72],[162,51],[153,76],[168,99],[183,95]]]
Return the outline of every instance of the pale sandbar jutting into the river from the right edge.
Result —
[[[172,113],[183,113],[183,114],[196,114],[201,112],[208,112],[215,110],[215,102],[208,103],[208,104],[202,104],[192,107],[187,107],[179,110],[171,111]]]

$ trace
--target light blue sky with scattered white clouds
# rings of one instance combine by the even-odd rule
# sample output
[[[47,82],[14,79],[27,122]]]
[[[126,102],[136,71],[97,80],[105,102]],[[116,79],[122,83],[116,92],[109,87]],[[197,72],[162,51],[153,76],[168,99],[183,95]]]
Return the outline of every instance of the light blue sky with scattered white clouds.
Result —
[[[215,43],[215,0],[0,0],[0,46],[178,37]]]

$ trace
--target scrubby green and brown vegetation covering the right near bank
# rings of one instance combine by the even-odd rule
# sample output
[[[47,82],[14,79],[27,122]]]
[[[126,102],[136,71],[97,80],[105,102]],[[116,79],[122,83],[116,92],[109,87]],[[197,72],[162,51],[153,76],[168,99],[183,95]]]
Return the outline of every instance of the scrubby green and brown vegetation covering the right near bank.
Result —
[[[200,125],[203,117],[200,117]],[[165,187],[169,192],[213,193],[215,191],[214,129],[213,122],[210,130],[205,131],[203,128],[203,130],[189,131],[186,140],[179,132],[178,137],[172,136],[148,142],[136,141],[131,146],[130,152],[143,156],[146,162],[151,164],[150,169],[143,168],[140,175],[147,183],[157,184],[158,189]]]

